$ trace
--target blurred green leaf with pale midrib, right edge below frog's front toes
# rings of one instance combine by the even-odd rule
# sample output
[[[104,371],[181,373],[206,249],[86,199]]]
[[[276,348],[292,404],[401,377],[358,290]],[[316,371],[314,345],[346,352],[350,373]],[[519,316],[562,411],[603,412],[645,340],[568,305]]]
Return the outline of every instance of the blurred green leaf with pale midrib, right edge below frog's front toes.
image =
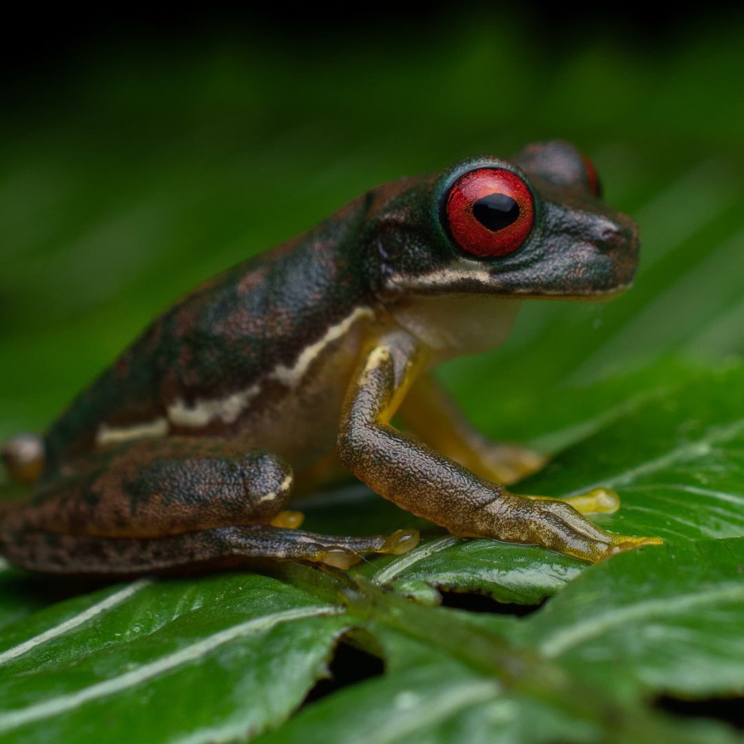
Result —
[[[618,556],[519,624],[525,643],[597,684],[744,695],[744,538]]]

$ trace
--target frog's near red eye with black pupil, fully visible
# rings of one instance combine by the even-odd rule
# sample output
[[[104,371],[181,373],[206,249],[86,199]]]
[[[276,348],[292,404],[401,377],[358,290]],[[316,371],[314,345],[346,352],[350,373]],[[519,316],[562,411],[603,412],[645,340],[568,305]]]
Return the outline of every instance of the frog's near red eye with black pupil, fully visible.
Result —
[[[535,204],[527,184],[504,168],[480,168],[449,190],[449,230],[464,251],[478,257],[505,256],[530,234]]]

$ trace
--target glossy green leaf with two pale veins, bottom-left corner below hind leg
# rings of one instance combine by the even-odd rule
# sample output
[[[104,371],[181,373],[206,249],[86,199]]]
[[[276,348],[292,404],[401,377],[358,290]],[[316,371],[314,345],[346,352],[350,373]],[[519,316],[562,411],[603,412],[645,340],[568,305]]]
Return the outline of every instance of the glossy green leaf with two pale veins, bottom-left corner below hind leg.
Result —
[[[256,574],[140,580],[11,626],[0,737],[230,740],[295,708],[324,673],[340,609]]]

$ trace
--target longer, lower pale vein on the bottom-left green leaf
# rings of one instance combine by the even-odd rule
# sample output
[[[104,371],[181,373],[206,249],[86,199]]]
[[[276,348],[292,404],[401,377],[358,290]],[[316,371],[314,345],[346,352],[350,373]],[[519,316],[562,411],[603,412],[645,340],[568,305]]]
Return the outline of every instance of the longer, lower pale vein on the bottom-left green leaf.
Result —
[[[10,731],[27,723],[33,723],[34,721],[65,713],[65,711],[78,708],[86,702],[113,695],[129,687],[134,687],[136,684],[141,684],[141,682],[147,682],[148,679],[152,679],[158,676],[158,674],[170,671],[182,664],[188,664],[190,661],[198,661],[199,658],[214,651],[214,649],[230,641],[234,641],[243,635],[250,635],[251,633],[261,632],[262,630],[270,630],[280,623],[286,623],[292,620],[319,618],[326,615],[342,615],[343,612],[343,607],[338,606],[295,607],[293,609],[275,612],[272,615],[265,615],[263,618],[246,620],[245,623],[240,623],[240,625],[222,630],[208,638],[203,638],[202,641],[185,646],[172,654],[158,658],[157,661],[153,661],[150,664],[143,664],[137,669],[121,674],[118,677],[107,679],[105,682],[98,682],[77,692],[46,699],[36,705],[28,705],[16,711],[8,711],[4,715],[0,715],[0,733]]]

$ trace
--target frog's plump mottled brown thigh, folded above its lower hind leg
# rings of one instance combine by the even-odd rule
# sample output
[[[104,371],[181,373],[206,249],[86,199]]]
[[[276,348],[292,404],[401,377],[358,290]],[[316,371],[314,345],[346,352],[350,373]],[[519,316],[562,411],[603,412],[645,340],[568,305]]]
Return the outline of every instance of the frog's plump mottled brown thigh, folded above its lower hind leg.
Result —
[[[291,486],[292,469],[273,452],[188,437],[140,440],[48,481],[27,510],[25,527],[160,537],[267,523],[286,506]]]

